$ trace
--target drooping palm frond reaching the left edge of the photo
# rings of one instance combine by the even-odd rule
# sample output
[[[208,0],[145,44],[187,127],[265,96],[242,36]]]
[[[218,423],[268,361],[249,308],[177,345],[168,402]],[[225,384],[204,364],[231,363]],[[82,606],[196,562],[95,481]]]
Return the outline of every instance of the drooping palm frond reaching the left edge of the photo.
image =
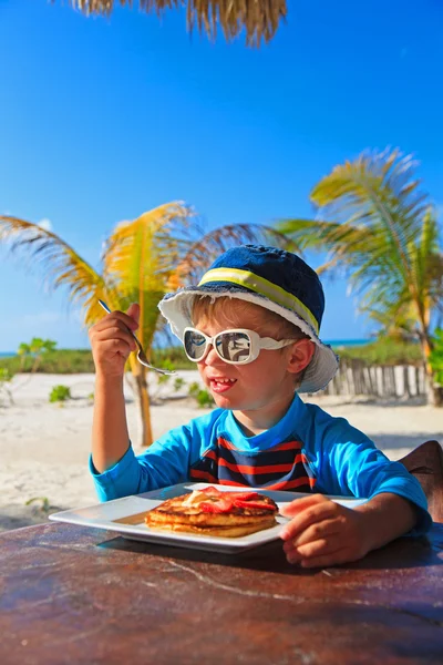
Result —
[[[66,287],[69,298],[85,308],[85,324],[103,314],[99,298],[109,296],[104,280],[87,262],[56,234],[18,217],[0,215],[0,243],[23,250],[41,265],[49,288]]]

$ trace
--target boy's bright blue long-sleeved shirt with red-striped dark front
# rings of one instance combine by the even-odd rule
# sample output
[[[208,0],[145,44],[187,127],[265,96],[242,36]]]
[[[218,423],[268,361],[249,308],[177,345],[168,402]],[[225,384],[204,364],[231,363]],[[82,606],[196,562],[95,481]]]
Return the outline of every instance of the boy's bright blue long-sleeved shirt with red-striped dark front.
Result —
[[[298,395],[284,418],[260,434],[246,437],[231,411],[214,409],[171,430],[138,457],[130,446],[104,473],[96,472],[92,459],[90,469],[101,501],[188,480],[368,499],[391,492],[418,507],[414,534],[432,524],[424,492],[403,464],[390,461],[344,418]]]

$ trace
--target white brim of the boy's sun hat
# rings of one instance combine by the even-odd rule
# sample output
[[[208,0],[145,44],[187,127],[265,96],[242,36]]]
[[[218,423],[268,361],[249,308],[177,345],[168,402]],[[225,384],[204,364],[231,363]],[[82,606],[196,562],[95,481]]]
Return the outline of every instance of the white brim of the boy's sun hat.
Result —
[[[322,390],[336,375],[339,367],[339,358],[329,345],[321,341],[312,326],[292,310],[272,303],[266,296],[248,291],[241,287],[230,286],[226,288],[222,287],[222,285],[217,288],[189,286],[174,294],[166,295],[158,303],[158,309],[168,321],[174,335],[181,341],[183,341],[185,328],[193,325],[193,301],[197,296],[210,296],[213,301],[216,298],[225,297],[254,303],[265,309],[275,311],[308,335],[315,342],[316,350],[309,366],[305,370],[303,379],[297,389],[298,392],[317,392],[318,390]]]

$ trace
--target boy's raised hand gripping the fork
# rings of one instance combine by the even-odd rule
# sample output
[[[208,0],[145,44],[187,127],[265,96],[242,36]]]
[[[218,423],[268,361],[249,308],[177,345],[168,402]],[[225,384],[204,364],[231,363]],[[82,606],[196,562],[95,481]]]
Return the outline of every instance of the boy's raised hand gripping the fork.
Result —
[[[127,313],[106,314],[89,331],[96,372],[105,377],[122,377],[125,362],[135,351],[135,339],[130,332],[138,328],[140,306],[131,305]]]

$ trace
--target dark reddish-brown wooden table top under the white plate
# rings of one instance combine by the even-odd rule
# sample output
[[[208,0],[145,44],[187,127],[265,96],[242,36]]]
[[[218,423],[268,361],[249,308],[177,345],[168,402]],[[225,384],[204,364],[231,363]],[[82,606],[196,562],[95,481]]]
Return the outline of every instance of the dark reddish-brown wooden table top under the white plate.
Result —
[[[303,571],[49,523],[0,535],[0,663],[443,663],[443,524]]]

